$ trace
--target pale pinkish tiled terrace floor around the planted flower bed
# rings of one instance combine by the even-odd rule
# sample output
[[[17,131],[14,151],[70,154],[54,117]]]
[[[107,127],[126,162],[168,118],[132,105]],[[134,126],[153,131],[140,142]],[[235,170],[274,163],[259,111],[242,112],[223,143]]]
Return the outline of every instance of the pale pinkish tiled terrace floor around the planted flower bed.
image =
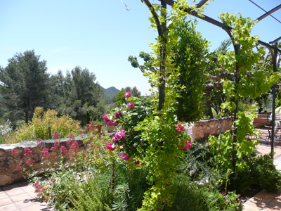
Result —
[[[270,153],[270,143],[267,144],[267,132],[263,131],[258,146],[260,155]],[[280,134],[281,135],[281,134]],[[281,171],[281,143],[275,140],[274,164]],[[281,210],[281,190],[278,193],[261,191],[243,204],[245,211]],[[40,203],[33,186],[27,181],[0,188],[0,211],[49,211],[53,210],[46,203]]]

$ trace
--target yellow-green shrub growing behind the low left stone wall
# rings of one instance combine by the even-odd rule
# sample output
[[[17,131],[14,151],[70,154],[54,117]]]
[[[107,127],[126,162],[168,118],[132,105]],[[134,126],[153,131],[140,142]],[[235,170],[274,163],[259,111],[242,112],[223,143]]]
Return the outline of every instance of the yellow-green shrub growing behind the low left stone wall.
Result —
[[[51,127],[52,134],[57,131],[60,138],[67,137],[70,133],[79,134],[80,124],[72,120],[68,115],[57,117],[55,110],[46,110],[37,107],[34,110],[32,122],[18,127],[13,135],[9,137],[7,143],[17,143],[22,140],[49,139],[48,127]]]

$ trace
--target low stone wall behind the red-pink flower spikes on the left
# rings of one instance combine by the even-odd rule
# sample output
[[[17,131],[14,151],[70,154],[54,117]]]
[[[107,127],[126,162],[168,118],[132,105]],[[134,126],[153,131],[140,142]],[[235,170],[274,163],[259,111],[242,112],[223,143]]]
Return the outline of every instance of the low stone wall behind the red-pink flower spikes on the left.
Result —
[[[75,137],[74,141],[77,141],[79,148],[83,147],[84,136]],[[60,139],[60,146],[66,146],[66,141],[68,139]],[[15,181],[23,179],[22,174],[17,170],[17,163],[13,159],[11,152],[15,150],[18,153],[17,162],[25,163],[27,158],[23,155],[25,153],[25,148],[28,147],[32,151],[34,162],[34,170],[41,172],[44,167],[41,164],[42,158],[42,147],[48,148],[51,156],[53,158],[59,158],[56,152],[51,152],[51,147],[54,145],[55,141],[58,140],[42,140],[41,146],[38,146],[37,141],[21,141],[15,144],[1,144],[0,145],[0,186],[6,186],[8,184],[13,184]]]

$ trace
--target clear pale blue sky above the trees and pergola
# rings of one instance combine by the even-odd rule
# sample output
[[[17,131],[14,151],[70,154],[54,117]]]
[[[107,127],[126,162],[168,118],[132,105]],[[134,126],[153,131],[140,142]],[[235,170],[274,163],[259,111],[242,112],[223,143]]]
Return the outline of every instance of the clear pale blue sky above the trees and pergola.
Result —
[[[281,3],[253,1],[267,11]],[[150,52],[149,44],[157,34],[148,28],[150,12],[141,0],[123,2],[130,11],[122,0],[0,0],[0,65],[6,67],[15,53],[34,49],[47,61],[51,74],[79,65],[93,72],[105,88],[136,86],[148,94],[148,80],[127,58],[138,56],[140,51]],[[248,0],[215,0],[205,14],[218,20],[223,11],[254,19],[264,13]],[[273,15],[281,20],[281,10]],[[211,50],[228,38],[226,32],[203,21],[197,30],[211,42]],[[281,36],[281,24],[268,17],[256,24],[252,35],[273,41]]]

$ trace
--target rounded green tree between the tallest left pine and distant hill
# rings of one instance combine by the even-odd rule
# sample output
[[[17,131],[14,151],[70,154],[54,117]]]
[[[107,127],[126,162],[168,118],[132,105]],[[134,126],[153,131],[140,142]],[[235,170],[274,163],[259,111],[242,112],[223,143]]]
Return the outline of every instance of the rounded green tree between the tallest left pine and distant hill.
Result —
[[[61,71],[51,77],[54,109],[59,115],[70,115],[81,124],[89,123],[98,117],[98,108],[105,105],[105,96],[100,85],[96,83],[96,75],[88,69],[75,67],[64,76]],[[98,106],[98,108],[96,108]]]

